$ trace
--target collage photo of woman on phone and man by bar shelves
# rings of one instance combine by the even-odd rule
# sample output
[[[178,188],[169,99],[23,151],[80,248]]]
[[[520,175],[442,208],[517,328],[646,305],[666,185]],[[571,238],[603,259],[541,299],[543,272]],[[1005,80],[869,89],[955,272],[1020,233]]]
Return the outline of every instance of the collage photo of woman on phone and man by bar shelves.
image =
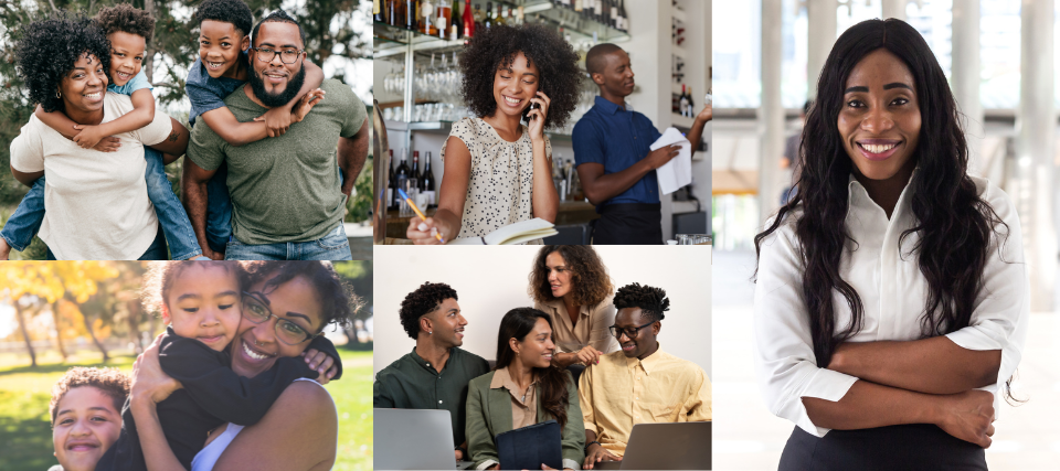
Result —
[[[708,244],[703,0],[379,0],[379,245]]]

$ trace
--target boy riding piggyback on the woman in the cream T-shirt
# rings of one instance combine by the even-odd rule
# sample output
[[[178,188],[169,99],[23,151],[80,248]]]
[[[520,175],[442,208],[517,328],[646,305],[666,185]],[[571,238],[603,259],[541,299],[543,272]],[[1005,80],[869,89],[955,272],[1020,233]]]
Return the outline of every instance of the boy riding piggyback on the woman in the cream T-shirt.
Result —
[[[110,42],[107,93],[129,96],[134,110],[118,118],[110,117],[112,120],[105,117],[104,122],[98,126],[77,125],[62,110],[45,113],[40,105],[34,115],[82,148],[113,152],[121,146],[117,136],[144,128],[155,119],[151,84],[140,69],[147,43],[155,32],[155,19],[144,10],[119,3],[100,9],[94,20]],[[191,221],[166,178],[166,164],[177,160],[179,156],[163,157],[161,152],[145,146],[144,158],[147,160],[147,195],[155,206],[172,258],[189,259],[201,256],[202,249],[199,248]],[[40,231],[44,221],[44,176],[33,183],[0,232],[0,260],[8,258],[12,247],[20,251],[25,250]]]

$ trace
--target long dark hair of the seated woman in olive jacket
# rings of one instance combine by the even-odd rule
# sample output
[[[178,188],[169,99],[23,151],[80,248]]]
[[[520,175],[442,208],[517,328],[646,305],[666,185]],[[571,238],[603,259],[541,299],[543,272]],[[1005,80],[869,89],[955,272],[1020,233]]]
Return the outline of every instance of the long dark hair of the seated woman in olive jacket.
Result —
[[[516,360],[516,351],[508,345],[508,340],[516,339],[522,342],[527,334],[533,330],[538,319],[544,319],[552,328],[552,318],[544,312],[533,308],[516,308],[505,314],[500,320],[500,332],[497,335],[497,368],[500,370],[511,364]],[[566,406],[570,404],[570,397],[566,389],[568,373],[554,365],[545,368],[533,368],[541,383],[539,389],[541,395],[538,400],[541,407],[552,414],[552,417],[560,422],[560,428],[566,426]]]

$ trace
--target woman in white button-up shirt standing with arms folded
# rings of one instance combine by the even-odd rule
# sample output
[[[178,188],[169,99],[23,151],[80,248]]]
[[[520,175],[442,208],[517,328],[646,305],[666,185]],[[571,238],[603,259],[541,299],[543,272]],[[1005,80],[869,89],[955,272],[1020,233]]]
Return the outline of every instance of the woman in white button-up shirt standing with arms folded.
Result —
[[[945,75],[899,20],[847,30],[798,193],[756,237],[755,370],[781,470],[986,469],[1027,330],[1019,220],[967,174]]]

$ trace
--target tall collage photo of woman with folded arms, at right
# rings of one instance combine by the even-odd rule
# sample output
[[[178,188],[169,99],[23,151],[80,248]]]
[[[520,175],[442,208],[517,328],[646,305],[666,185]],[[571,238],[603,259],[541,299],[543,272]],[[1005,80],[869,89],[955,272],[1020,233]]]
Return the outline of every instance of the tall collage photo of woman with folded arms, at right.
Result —
[[[716,469],[1056,469],[1060,4],[713,8]]]

